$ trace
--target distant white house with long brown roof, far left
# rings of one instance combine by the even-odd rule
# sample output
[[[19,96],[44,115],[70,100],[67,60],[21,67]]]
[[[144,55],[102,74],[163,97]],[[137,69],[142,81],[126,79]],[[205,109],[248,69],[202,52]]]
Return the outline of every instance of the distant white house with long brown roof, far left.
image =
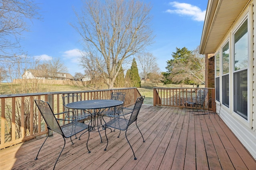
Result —
[[[22,75],[23,79],[51,79],[47,70],[28,69]],[[58,72],[56,79],[58,80],[74,80],[74,77],[69,73]]]

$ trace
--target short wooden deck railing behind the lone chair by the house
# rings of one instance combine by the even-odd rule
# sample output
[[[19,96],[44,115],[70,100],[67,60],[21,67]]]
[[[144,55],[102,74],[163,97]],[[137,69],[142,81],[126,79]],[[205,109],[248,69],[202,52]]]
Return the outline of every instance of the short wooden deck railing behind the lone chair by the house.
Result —
[[[197,90],[200,88],[158,88],[153,89],[154,106],[171,106],[182,107],[186,106],[186,101],[192,101],[196,96]],[[215,89],[207,88],[208,94],[204,102],[205,109],[215,111]],[[192,106],[186,106],[192,108]]]

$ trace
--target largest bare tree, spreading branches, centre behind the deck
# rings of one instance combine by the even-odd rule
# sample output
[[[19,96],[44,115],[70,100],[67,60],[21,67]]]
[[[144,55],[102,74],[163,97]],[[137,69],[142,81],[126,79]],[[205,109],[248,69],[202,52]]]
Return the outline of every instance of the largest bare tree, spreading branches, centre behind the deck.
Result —
[[[114,87],[124,60],[152,43],[150,10],[138,0],[84,0],[82,12],[76,13],[77,24],[72,26],[81,35],[85,51],[97,52],[95,66],[109,88]]]

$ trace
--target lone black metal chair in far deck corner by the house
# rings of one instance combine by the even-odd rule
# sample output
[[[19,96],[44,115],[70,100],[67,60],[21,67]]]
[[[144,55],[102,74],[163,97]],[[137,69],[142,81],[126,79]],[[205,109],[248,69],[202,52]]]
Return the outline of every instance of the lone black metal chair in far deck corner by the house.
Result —
[[[204,102],[205,102],[207,94],[208,94],[208,89],[207,88],[199,89],[197,91],[196,96],[191,97],[191,99],[192,99],[191,101],[189,101],[189,100],[186,101],[185,111],[187,109],[187,106],[190,105],[190,106],[192,106],[192,111],[189,111],[190,113],[193,113],[193,114],[196,114],[196,115],[205,115],[205,114],[207,114],[207,113],[205,113],[205,110],[204,110]],[[203,107],[204,113],[200,114],[199,112],[202,111],[202,107]]]

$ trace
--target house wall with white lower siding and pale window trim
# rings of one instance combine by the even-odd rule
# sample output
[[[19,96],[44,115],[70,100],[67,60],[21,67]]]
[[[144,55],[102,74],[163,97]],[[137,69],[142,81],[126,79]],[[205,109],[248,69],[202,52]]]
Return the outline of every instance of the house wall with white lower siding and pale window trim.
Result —
[[[235,21],[235,23],[230,27],[230,30],[226,33],[226,36],[223,37],[222,41],[220,42],[220,45],[218,48],[215,50],[216,54],[218,52],[221,53],[222,47],[226,44],[227,41],[229,41],[229,49],[230,49],[230,57],[229,57],[229,107],[223,105],[221,103],[222,101],[222,78],[220,76],[220,102],[216,101],[216,111],[220,112],[220,117],[222,120],[228,125],[228,127],[232,130],[232,132],[238,137],[240,142],[248,149],[248,151],[252,154],[252,156],[256,159],[256,61],[255,61],[255,45],[254,43],[256,42],[256,37],[255,35],[255,14],[254,12],[256,11],[256,7],[253,5],[256,4],[256,0],[251,0],[248,6],[244,8],[244,11],[241,13],[239,18]],[[248,118],[247,120],[238,115],[237,113],[234,112],[234,75],[233,75],[233,57],[234,57],[234,52],[233,50],[233,44],[234,44],[234,39],[233,39],[233,34],[240,26],[244,18],[248,14],[248,74],[247,74],[247,80],[248,80],[248,96],[247,96],[247,102],[248,102]],[[210,59],[208,60],[208,62]],[[216,62],[215,62],[216,63]],[[211,63],[208,63],[208,68],[211,70],[212,66],[210,65]],[[221,64],[221,63],[220,63]],[[209,72],[208,72],[208,86],[211,85],[211,82],[209,81]]]

